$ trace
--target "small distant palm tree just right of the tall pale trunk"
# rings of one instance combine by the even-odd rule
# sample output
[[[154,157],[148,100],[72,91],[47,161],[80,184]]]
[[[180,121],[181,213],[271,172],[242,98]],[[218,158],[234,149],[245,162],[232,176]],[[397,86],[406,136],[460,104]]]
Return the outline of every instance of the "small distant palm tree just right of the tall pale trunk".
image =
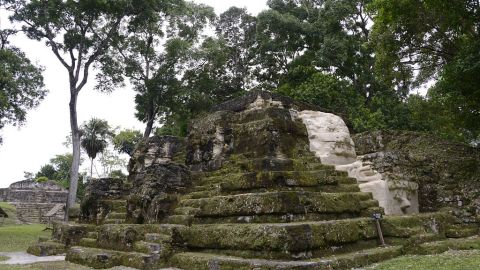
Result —
[[[108,146],[108,137],[111,136],[110,126],[105,120],[92,118],[84,123],[81,128],[82,148],[90,158],[90,177],[93,176],[93,160],[97,154],[102,153]]]

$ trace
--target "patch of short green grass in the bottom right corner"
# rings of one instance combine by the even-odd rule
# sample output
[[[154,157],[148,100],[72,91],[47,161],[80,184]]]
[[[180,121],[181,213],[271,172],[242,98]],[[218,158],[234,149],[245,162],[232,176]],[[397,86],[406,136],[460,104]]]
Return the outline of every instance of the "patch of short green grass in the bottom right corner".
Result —
[[[438,255],[404,256],[388,260],[368,270],[478,270],[480,250],[448,251]]]

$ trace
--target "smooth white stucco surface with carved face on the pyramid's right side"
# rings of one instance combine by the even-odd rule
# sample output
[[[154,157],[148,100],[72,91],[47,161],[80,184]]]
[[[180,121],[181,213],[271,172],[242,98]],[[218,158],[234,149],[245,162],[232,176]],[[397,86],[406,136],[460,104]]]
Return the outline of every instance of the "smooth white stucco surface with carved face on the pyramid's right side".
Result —
[[[335,165],[356,178],[363,192],[371,192],[387,215],[418,213],[418,185],[409,181],[386,181],[371,164],[357,157],[347,125],[337,115],[319,111],[294,112],[305,124],[310,151],[323,164]]]

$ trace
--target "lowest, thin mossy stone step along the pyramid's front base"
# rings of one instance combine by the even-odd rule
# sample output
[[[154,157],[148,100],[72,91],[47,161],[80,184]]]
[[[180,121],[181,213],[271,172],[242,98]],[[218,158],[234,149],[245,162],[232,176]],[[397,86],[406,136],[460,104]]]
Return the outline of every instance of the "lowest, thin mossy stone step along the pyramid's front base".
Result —
[[[321,260],[278,261],[264,259],[245,259],[208,253],[177,253],[173,255],[170,264],[191,270],[211,269],[295,269],[295,270],[333,270],[362,267],[401,255],[401,247],[371,248],[358,252],[326,257]]]

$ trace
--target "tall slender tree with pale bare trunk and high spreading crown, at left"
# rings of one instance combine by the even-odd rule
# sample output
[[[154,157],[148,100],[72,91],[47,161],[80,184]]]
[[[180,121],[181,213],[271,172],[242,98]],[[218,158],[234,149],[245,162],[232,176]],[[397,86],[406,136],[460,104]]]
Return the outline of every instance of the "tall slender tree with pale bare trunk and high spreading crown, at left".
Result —
[[[75,203],[80,166],[80,129],[77,100],[94,64],[103,60],[118,42],[118,31],[127,15],[138,13],[142,1],[8,0],[10,19],[22,25],[27,37],[44,41],[66,69],[70,93],[69,114],[73,147],[68,208]],[[100,76],[101,77],[101,76]],[[116,81],[117,82],[117,81]]]

